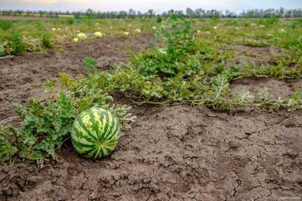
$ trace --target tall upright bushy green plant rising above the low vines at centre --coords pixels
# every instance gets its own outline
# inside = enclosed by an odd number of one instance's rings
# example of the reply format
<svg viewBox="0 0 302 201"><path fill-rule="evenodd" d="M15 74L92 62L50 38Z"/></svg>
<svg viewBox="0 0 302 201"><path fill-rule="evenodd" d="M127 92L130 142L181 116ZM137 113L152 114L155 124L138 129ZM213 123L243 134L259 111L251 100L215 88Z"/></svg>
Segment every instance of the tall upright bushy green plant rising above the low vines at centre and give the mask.
<svg viewBox="0 0 302 201"><path fill-rule="evenodd" d="M164 48L155 46L132 58L133 67L138 73L146 76L162 75L174 77L192 74L200 68L198 60L194 60L201 46L195 40L196 32L183 17L172 16L170 30L160 29L158 36L163 38Z"/></svg>

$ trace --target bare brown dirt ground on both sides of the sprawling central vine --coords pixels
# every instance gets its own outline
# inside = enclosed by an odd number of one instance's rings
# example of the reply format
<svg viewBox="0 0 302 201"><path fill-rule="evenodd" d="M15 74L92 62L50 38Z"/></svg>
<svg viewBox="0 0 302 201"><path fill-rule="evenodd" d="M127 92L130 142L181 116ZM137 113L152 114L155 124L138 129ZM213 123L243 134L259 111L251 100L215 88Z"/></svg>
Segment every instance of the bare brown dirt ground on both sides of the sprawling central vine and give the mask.
<svg viewBox="0 0 302 201"><path fill-rule="evenodd" d="M58 72L83 73L84 57L100 69L127 61L140 39L98 39L72 44L67 54L51 51L0 60L0 120L14 115L9 103L41 94L37 84ZM241 79L233 91L270 87L274 96L292 93L302 80ZM138 122L100 161L84 159L72 145L57 161L17 159L0 166L0 200L299 200L302 199L302 111L268 113L237 108L219 113L203 107L135 107ZM282 123L283 122L283 123ZM280 124L282 123L282 124ZM275 126L274 126L275 125ZM270 127L270 128L268 128Z"/></svg>

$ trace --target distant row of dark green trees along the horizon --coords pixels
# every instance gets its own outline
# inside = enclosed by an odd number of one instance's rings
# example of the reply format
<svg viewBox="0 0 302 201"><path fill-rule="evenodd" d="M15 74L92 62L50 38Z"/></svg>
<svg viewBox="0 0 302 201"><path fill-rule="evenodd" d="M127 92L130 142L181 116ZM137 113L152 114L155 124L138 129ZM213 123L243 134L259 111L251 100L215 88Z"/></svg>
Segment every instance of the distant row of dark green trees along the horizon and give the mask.
<svg viewBox="0 0 302 201"><path fill-rule="evenodd" d="M88 9L86 12L69 12L69 11L23 11L23 10L0 10L0 15L3 16L40 16L40 17L53 17L57 18L59 15L70 15L76 19L85 17L91 19L125 19L125 18L154 18L154 17L168 17L172 13L182 14L187 18L300 18L302 17L302 9L252 9L242 11L239 14L228 10L192 10L187 8L185 11L169 10L161 14L156 14L154 10L149 9L147 12L142 13L130 9L129 11L112 11L112 12L96 12Z"/></svg>

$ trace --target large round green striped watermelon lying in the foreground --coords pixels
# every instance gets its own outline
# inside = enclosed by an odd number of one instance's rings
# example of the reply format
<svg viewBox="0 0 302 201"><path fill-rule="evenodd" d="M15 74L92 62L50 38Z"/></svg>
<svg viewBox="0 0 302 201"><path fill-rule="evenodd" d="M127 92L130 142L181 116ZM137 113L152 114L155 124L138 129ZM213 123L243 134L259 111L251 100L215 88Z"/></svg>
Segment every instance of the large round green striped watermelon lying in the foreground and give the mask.
<svg viewBox="0 0 302 201"><path fill-rule="evenodd" d="M118 120L108 111L91 108L75 120L71 140L76 150L87 158L110 154L120 137Z"/></svg>

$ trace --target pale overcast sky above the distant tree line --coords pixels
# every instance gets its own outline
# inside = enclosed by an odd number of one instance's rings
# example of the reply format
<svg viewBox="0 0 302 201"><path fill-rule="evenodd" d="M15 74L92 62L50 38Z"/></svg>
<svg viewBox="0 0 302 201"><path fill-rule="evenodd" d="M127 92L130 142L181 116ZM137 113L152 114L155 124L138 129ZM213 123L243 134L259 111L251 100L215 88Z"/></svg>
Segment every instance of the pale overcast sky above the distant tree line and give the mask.
<svg viewBox="0 0 302 201"><path fill-rule="evenodd" d="M302 0L0 0L0 9L52 11L136 11L157 13L174 10L217 9L239 12L248 9L302 8Z"/></svg>

